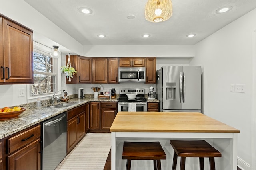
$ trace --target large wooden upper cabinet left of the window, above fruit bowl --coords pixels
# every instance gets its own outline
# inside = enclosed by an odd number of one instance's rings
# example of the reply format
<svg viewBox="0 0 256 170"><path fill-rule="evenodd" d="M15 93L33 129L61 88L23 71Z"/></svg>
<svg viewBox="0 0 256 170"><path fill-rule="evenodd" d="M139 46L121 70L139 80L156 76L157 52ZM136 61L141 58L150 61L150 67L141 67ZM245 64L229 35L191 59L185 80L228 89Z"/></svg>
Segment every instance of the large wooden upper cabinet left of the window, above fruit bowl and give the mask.
<svg viewBox="0 0 256 170"><path fill-rule="evenodd" d="M33 84L33 32L0 16L0 84Z"/></svg>

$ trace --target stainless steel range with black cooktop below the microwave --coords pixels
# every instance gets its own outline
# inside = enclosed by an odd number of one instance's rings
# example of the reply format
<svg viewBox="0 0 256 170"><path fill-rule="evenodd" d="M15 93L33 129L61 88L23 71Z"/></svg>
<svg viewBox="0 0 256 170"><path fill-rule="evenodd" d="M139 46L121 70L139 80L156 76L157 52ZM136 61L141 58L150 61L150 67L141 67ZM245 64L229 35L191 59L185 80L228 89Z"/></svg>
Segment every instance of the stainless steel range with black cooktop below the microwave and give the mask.
<svg viewBox="0 0 256 170"><path fill-rule="evenodd" d="M136 94L135 99L128 99L126 94ZM147 99L144 88L122 88L117 99L118 111L128 111L129 103L136 103L136 111L147 111Z"/></svg>

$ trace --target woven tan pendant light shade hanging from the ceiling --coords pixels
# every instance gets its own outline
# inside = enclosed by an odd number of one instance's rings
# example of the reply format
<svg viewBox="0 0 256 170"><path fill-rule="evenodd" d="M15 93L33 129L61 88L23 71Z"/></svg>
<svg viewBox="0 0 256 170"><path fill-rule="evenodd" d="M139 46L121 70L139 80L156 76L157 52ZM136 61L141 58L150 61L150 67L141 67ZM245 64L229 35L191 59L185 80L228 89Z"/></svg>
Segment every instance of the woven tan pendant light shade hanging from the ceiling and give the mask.
<svg viewBox="0 0 256 170"><path fill-rule="evenodd" d="M171 0L148 0L145 7L145 18L150 22L162 22L172 16Z"/></svg>

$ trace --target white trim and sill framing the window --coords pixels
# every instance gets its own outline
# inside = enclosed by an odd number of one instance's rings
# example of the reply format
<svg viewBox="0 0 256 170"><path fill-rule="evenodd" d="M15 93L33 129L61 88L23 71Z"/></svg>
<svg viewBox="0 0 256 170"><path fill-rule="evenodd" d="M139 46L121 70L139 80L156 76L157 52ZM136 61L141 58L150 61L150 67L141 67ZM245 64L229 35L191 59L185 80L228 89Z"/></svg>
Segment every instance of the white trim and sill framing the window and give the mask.
<svg viewBox="0 0 256 170"><path fill-rule="evenodd" d="M33 46L34 46L34 49L36 49L36 51L42 53L42 54L46 54L46 55L49 55L50 54L50 51L51 51L51 48L50 47L47 47L45 45L42 45L36 41L33 41ZM33 51L34 51L33 49ZM48 54L45 53L44 51L46 52L49 52ZM58 91L61 89L61 72L60 72L60 65L61 65L61 58L58 58L57 59L57 71L56 71L56 92L52 92L52 93L48 93L48 94L38 94L36 96L32 96L30 94L30 86L31 84L27 84L27 100L29 102L34 102L36 101L37 98L40 98L41 100L42 99L48 99L48 98L51 98L52 95L58 93ZM34 72L36 73L36 71ZM47 74L47 73L46 73ZM51 73L49 73L51 74ZM61 94L61 92L59 93Z"/></svg>

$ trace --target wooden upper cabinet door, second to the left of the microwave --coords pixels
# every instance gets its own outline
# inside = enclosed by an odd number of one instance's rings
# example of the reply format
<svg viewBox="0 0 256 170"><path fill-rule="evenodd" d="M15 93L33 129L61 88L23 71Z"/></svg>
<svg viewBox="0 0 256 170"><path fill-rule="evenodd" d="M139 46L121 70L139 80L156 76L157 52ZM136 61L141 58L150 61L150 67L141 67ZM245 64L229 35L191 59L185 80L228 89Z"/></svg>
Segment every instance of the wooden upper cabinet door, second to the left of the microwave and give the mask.
<svg viewBox="0 0 256 170"><path fill-rule="evenodd" d="M92 83L107 83L108 77L108 59L92 59Z"/></svg>

